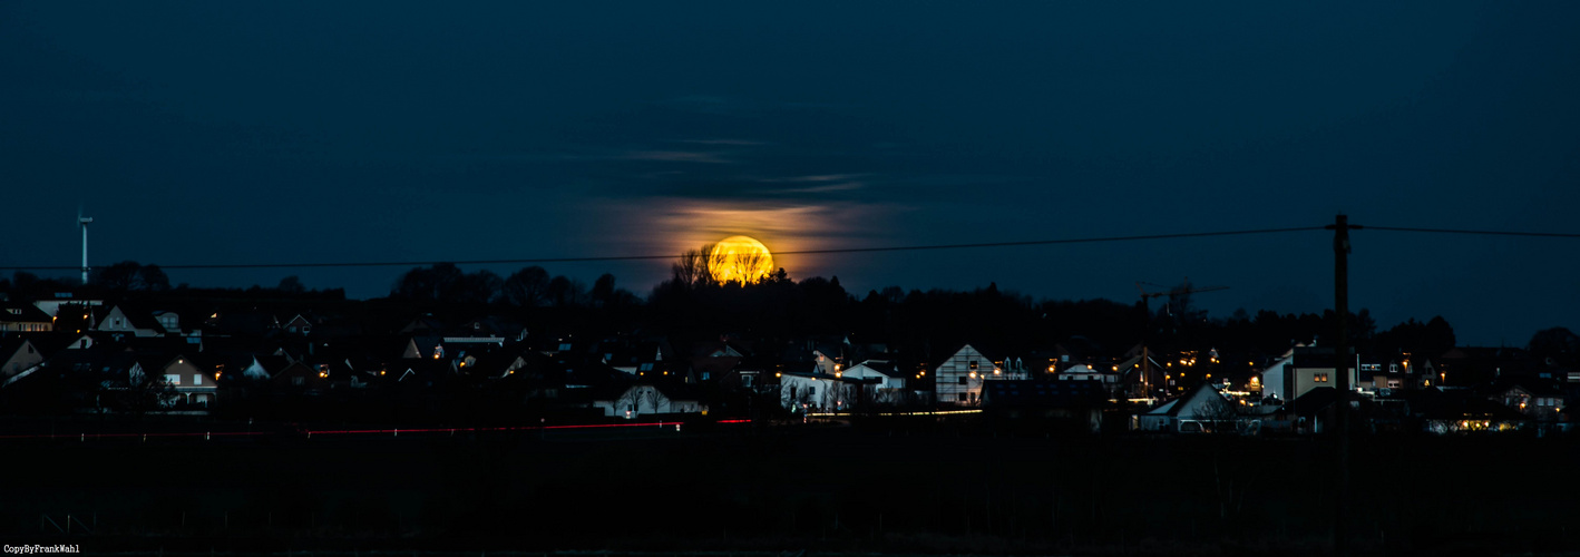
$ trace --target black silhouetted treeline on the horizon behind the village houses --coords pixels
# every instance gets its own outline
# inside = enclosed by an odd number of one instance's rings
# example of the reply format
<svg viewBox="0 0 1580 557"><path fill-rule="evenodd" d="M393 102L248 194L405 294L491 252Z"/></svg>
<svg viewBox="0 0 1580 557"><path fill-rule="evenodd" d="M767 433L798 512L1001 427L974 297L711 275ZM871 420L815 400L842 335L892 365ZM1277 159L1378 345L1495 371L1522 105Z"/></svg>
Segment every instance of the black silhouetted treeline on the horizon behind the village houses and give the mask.
<svg viewBox="0 0 1580 557"><path fill-rule="evenodd" d="M975 290L890 286L856 293L847 292L837 276L796 281L782 268L755 284L720 284L711 279L706 265L697 252L683 257L673 265L673 276L646 297L616 286L608 273L588 286L536 265L501 278L488 270L468 273L453 264L411 268L392 282L387 298L363 303L346 300L343 289L307 289L297 276L286 276L275 287L172 287L158 265L137 262L96 268L87 286L17 271L0 279L0 292L13 300L63 292L112 298L275 300L283 305L316 300L338 301L367 320L411 311L457 319L499 314L567 331L651 331L681 339L733 335L787 341L839 335L883 342L923 358L964 342L991 342L1008 352L1060 344L1082 355L1119 355L1146 342L1157 350L1217 349L1259 363L1296 342L1322 344L1337 330L1332 311L1280 314L1262 309L1253 314L1240 309L1215 317L1191 306L1188 295L1149 309L1142 301L1035 300L997 284ZM1349 316L1349 336L1360 350L1435 355L1455 346L1454 327L1443 317L1379 328L1367 309ZM1542 352L1540 357L1571 361L1580 353L1580 339L1555 328L1539 331L1531 349Z"/></svg>

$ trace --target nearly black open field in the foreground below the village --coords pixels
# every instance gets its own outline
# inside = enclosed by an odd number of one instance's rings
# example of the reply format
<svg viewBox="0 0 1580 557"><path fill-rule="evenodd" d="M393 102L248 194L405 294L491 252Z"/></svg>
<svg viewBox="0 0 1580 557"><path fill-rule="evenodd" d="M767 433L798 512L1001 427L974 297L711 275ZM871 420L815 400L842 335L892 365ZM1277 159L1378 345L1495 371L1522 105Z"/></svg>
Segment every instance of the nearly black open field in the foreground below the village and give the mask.
<svg viewBox="0 0 1580 557"><path fill-rule="evenodd" d="M85 554L1322 555L1335 494L1322 439L969 426L46 439L0 459L0 540ZM1352 546L1577 551L1577 470L1571 437L1357 437Z"/></svg>

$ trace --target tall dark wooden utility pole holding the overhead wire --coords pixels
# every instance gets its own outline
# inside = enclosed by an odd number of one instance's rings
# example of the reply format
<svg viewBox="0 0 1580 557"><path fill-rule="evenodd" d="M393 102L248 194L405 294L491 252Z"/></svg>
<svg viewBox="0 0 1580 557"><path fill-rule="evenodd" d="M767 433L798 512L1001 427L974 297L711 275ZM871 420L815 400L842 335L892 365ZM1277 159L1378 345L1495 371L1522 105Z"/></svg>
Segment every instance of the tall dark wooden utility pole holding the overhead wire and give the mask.
<svg viewBox="0 0 1580 557"><path fill-rule="evenodd" d="M1338 486L1334 489L1334 555L1349 554L1349 216L1337 215L1334 224L1334 316L1338 341L1334 344L1334 451Z"/></svg>

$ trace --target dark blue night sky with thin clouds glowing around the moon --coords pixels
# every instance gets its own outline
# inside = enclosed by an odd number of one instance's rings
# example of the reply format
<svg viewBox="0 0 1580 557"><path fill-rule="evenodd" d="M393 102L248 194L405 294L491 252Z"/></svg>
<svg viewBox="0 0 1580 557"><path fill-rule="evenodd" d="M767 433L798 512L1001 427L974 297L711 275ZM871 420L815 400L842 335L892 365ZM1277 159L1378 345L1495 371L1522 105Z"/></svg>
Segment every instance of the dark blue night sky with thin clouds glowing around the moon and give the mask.
<svg viewBox="0 0 1580 557"><path fill-rule="evenodd" d="M1580 232L1580 3L0 3L0 265L1321 226ZM858 297L1332 303L1332 235L785 256ZM1574 327L1577 240L1354 232L1351 308ZM493 268L509 275L521 265ZM646 293L668 262L548 264ZM172 270L389 292L404 268ZM41 275L74 276L70 271Z"/></svg>

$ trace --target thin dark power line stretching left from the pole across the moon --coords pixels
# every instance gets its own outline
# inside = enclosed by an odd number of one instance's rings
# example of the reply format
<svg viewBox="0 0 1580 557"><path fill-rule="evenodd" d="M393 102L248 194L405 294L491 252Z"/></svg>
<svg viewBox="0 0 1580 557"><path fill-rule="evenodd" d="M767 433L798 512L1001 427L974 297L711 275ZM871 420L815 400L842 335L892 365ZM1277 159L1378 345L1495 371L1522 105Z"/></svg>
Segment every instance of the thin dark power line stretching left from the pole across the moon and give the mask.
<svg viewBox="0 0 1580 557"><path fill-rule="evenodd" d="M814 254L858 254L858 252L883 252L883 251L934 251L934 249L978 249L978 248L1014 248L1014 246L1052 246L1052 245L1073 245L1073 243L1103 243L1103 241L1139 241L1139 240L1174 240L1174 238L1209 238L1209 237L1231 237L1231 235L1258 235L1258 234L1280 234L1280 232L1310 232L1322 230L1321 226L1304 226L1304 227L1288 227L1288 229L1255 229L1255 230L1223 230L1223 232L1185 232L1185 234L1146 234L1146 235L1128 235L1128 237L1097 237L1097 238L1060 238L1060 240L1025 240L1025 241L984 241L984 243L948 243L948 245L926 245L926 246L882 246L882 248L833 248L833 249L799 249L799 251L779 251L774 256L814 256ZM186 268L186 270L202 270L202 268L322 268L322 267L420 267L420 265L436 265L436 264L453 264L453 265L520 265L520 264L580 264L580 262L610 262L610 260L651 260L651 259L675 259L676 254L662 256L604 256L604 257L536 257L536 259L476 259L476 260L404 260L404 262L333 262L333 264L212 264L212 265L158 265L160 268ZM0 270L51 270L51 271L74 271L81 267L58 267L58 265L3 265Z"/></svg>

